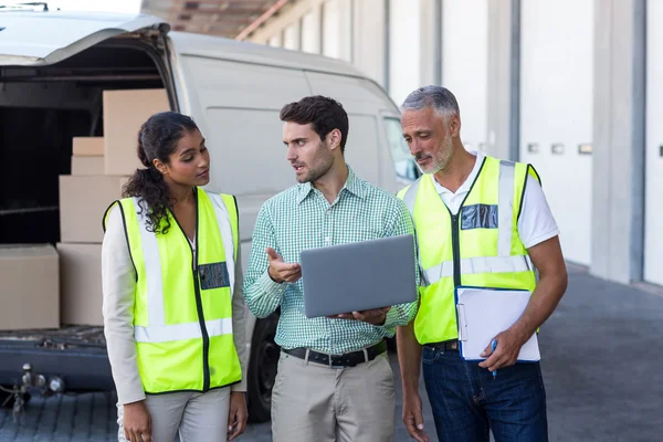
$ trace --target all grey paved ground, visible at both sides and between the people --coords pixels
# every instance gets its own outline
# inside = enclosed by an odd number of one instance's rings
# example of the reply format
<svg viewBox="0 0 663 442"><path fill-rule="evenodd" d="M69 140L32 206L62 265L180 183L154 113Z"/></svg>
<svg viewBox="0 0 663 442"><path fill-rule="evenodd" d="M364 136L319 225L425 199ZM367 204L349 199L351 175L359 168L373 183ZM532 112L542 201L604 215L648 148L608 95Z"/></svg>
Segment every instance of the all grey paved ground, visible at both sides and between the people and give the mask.
<svg viewBox="0 0 663 442"><path fill-rule="evenodd" d="M567 295L540 334L550 440L663 440L662 339L663 294L571 272ZM398 370L396 355L391 360ZM425 397L424 404L434 440ZM400 412L399 402L396 440L408 441ZM22 425L0 411L1 442L96 442L115 435L114 394L33 400ZM240 440L271 441L270 424L251 425Z"/></svg>

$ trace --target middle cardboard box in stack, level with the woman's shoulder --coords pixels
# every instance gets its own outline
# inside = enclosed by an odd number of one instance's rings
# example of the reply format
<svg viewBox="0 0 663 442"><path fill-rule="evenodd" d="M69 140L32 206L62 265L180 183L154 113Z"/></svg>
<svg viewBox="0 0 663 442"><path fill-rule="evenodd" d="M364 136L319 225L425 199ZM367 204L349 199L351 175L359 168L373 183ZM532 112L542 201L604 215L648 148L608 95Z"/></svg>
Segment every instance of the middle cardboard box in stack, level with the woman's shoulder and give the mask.
<svg viewBox="0 0 663 442"><path fill-rule="evenodd" d="M101 243L108 206L122 198L128 177L60 176L60 241Z"/></svg>

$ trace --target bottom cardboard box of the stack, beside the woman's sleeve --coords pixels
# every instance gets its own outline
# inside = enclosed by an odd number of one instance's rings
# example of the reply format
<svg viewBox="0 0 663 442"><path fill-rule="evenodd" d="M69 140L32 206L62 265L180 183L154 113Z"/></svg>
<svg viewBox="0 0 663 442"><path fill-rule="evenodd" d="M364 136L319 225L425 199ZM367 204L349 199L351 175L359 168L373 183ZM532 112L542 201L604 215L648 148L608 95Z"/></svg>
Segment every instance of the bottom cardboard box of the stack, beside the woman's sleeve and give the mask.
<svg viewBox="0 0 663 442"><path fill-rule="evenodd" d="M57 244L60 317L64 325L104 325L102 244Z"/></svg>

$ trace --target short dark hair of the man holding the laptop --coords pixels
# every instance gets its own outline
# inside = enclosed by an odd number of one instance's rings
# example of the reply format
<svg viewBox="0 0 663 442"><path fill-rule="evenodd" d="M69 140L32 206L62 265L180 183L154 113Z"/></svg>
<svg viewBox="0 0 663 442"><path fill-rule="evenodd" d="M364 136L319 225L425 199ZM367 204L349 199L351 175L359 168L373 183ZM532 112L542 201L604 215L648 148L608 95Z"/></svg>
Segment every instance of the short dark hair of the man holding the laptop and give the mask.
<svg viewBox="0 0 663 442"><path fill-rule="evenodd" d="M307 96L283 106L280 117L282 122L301 125L311 123L322 140L325 140L332 130L340 130L340 151L345 152L349 129L348 114L336 99L322 95Z"/></svg>

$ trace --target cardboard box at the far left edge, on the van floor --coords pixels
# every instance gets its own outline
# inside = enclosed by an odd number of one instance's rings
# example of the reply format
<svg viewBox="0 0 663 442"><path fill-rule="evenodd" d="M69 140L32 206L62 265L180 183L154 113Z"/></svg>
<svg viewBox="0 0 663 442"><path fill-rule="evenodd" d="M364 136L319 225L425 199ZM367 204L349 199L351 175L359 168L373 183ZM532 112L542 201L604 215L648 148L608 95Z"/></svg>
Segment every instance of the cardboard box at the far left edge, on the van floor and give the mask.
<svg viewBox="0 0 663 442"><path fill-rule="evenodd" d="M0 329L59 328L59 272L50 244L0 245Z"/></svg>

